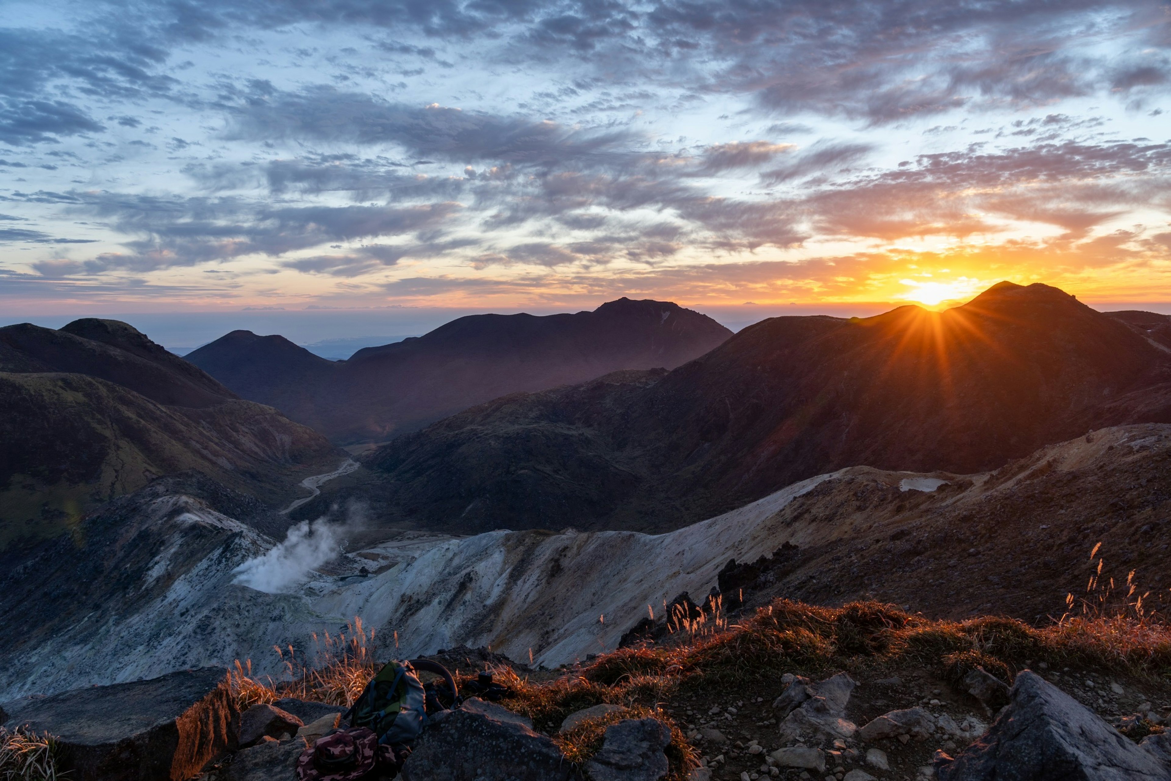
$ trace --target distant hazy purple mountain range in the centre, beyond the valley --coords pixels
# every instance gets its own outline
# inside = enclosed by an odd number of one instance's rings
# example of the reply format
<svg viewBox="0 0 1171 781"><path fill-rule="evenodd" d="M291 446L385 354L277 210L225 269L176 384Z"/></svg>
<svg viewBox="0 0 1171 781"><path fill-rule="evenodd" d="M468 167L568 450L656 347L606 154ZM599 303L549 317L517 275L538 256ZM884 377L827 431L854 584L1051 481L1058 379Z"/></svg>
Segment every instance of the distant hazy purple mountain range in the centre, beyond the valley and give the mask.
<svg viewBox="0 0 1171 781"><path fill-rule="evenodd" d="M345 444L386 440L508 393L621 369L673 369L731 335L674 303L619 299L576 314L460 317L348 361L249 331L232 331L186 359L244 398Z"/></svg>

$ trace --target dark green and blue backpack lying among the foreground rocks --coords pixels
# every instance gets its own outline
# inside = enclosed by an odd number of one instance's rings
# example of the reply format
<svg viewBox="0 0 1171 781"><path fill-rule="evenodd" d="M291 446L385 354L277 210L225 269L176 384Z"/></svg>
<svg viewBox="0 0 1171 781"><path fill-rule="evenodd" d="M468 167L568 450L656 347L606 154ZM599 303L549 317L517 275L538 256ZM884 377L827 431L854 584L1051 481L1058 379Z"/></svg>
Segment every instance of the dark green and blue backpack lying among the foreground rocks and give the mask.
<svg viewBox="0 0 1171 781"><path fill-rule="evenodd" d="M388 662L343 718L351 727L371 729L379 744L409 746L415 742L427 720L426 692L416 670L443 676L453 696L458 694L456 679L443 665L429 659Z"/></svg>

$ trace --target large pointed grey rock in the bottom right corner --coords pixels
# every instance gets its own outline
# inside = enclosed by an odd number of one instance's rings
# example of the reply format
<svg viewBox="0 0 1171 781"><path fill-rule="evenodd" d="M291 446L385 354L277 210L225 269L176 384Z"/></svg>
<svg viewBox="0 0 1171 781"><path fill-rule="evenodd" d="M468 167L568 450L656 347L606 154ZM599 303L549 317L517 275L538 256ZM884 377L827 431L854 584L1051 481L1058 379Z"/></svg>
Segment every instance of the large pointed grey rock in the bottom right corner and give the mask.
<svg viewBox="0 0 1171 781"><path fill-rule="evenodd" d="M988 732L937 769L940 781L1171 781L1171 769L1026 670Z"/></svg>

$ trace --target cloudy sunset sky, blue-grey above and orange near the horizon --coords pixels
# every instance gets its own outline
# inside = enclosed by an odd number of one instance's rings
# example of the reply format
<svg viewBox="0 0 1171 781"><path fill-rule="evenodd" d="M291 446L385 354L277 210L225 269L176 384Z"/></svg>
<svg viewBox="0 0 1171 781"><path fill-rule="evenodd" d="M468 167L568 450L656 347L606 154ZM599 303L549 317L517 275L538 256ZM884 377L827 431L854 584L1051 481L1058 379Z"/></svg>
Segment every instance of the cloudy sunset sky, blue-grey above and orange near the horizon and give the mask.
<svg viewBox="0 0 1171 781"><path fill-rule="evenodd" d="M0 306L1171 301L1169 89L1152 0L0 0Z"/></svg>

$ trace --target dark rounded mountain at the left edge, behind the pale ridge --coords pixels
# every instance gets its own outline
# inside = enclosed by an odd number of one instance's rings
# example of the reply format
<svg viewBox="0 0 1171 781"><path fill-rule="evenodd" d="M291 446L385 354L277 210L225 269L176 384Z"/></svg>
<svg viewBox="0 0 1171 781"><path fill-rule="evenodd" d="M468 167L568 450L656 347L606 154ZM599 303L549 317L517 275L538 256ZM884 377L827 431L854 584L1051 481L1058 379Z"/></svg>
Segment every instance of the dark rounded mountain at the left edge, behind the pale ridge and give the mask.
<svg viewBox="0 0 1171 781"><path fill-rule="evenodd" d="M156 477L197 470L265 501L341 454L126 323L0 328L0 547L52 536Z"/></svg>

